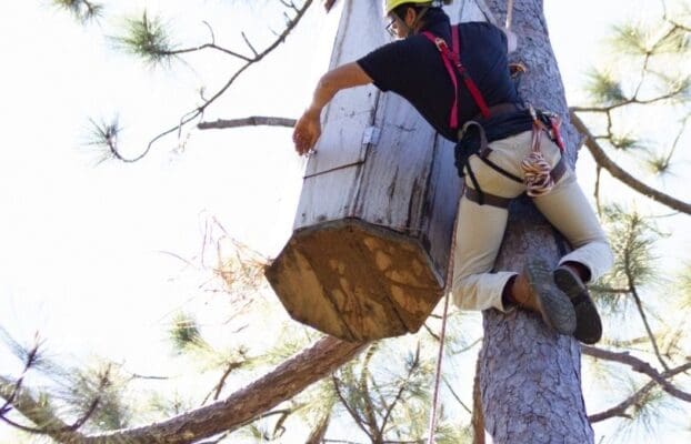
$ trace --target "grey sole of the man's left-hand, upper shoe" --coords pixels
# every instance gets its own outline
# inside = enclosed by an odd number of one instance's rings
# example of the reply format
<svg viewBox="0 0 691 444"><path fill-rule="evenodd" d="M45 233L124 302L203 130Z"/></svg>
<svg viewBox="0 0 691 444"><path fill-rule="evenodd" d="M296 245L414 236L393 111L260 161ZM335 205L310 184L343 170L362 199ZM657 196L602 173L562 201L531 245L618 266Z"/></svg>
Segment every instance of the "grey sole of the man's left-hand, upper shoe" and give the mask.
<svg viewBox="0 0 691 444"><path fill-rule="evenodd" d="M541 259L533 259L525 264L525 276L544 323L561 334L573 334L577 326L573 304L554 284L552 268Z"/></svg>

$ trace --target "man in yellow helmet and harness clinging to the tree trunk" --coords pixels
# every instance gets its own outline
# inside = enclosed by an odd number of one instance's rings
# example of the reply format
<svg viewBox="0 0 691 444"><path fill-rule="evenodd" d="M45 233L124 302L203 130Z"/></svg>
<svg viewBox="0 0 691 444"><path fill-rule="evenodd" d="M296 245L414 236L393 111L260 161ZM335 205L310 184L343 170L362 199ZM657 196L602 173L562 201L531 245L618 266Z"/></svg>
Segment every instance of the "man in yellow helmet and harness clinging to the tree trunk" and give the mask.
<svg viewBox="0 0 691 444"><path fill-rule="evenodd" d="M441 2L387 0L387 29L398 38L326 73L293 132L308 153L321 134L320 114L347 88L374 83L407 99L444 138L457 142L465 186L459 208L452 295L464 310L521 307L584 343L602 335L585 283L612 264L605 235L562 157L559 121L518 94L509 39L487 22L451 26ZM460 57L459 57L460 54ZM492 272L511 199L528 193L573 251L552 270L530 259L521 273Z"/></svg>

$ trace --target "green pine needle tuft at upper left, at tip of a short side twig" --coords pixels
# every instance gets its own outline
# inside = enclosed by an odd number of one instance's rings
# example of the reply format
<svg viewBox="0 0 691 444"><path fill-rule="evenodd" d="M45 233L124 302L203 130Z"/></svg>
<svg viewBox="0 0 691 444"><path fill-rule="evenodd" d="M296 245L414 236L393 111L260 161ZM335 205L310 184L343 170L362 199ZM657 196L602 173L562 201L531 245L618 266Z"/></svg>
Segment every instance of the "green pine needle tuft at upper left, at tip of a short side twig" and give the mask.
<svg viewBox="0 0 691 444"><path fill-rule="evenodd" d="M150 65L170 63L174 57L174 46L162 20L150 19L144 11L141 18L126 20L123 36L113 38L116 46L142 58Z"/></svg>

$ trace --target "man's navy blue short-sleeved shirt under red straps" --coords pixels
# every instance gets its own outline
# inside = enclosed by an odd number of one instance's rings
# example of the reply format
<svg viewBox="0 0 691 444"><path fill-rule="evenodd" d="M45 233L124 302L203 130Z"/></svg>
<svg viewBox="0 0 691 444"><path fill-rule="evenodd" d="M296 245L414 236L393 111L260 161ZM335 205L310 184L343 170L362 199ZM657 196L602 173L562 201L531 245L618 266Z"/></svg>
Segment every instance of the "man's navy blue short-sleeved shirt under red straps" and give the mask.
<svg viewBox="0 0 691 444"><path fill-rule="evenodd" d="M431 12L431 11L430 11ZM451 48L449 17L439 11L425 16L423 31L443 38ZM459 24L461 63L478 85L488 107L520 103L509 73L507 37L487 22ZM414 34L385 44L357 61L382 91L407 99L444 138L457 141L458 130L450 128L453 83L434 43ZM459 75L459 128L480 113Z"/></svg>

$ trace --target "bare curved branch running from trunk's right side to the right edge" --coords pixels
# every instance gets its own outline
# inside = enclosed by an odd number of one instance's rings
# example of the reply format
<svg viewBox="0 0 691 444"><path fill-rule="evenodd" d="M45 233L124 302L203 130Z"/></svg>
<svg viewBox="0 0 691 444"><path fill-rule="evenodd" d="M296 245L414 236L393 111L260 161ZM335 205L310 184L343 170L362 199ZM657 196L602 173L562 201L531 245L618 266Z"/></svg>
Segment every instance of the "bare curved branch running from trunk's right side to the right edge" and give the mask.
<svg viewBox="0 0 691 444"><path fill-rule="evenodd" d="M662 203L671 208L672 210L680 211L682 213L691 214L691 203L680 201L678 199L672 198L669 194L665 194L661 191L658 191L651 186L648 186L643 182L639 181L627 171L624 171L621 167L619 167L614 161L612 161L602 147L598 143L595 138L592 135L585 123L577 115L575 111L578 108L571 109L571 122L573 125L580 131L583 135L585 135L585 147L590 150L593 159L598 163L598 165L605 169L613 178L623 182L634 191Z"/></svg>

